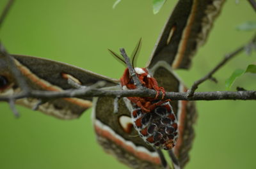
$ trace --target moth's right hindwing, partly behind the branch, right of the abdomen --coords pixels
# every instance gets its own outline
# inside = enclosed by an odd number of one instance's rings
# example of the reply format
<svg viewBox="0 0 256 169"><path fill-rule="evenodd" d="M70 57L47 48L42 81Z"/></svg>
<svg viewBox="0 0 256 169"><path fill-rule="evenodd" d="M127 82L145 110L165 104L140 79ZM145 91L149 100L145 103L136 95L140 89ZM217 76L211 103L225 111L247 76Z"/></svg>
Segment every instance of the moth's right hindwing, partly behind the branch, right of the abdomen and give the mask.
<svg viewBox="0 0 256 169"><path fill-rule="evenodd" d="M158 85L164 87L165 91L187 91L179 77L173 73L172 68L166 62L158 62L149 72L156 78ZM184 165L186 165L189 160L188 153L195 136L193 129L197 117L195 102L180 100L170 101L170 104L177 117L179 131L179 138L174 147L174 153L179 160L180 167L184 168Z"/></svg>

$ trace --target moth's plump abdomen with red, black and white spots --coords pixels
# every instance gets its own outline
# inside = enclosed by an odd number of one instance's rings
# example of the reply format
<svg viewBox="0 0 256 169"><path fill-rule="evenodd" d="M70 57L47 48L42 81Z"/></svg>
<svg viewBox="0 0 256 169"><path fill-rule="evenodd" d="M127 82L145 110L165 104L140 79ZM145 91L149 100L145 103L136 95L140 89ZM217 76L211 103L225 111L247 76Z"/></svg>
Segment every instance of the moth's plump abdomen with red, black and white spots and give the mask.
<svg viewBox="0 0 256 169"><path fill-rule="evenodd" d="M136 108L132 112L134 128L145 142L153 147L170 150L178 138L177 120L167 101L151 112Z"/></svg>

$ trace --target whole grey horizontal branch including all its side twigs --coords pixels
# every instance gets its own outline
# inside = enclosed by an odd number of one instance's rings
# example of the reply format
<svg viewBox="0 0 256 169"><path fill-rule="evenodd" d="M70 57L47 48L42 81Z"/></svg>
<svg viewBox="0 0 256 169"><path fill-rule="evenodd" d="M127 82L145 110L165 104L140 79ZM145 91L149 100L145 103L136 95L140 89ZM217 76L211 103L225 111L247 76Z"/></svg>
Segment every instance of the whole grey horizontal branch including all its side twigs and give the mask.
<svg viewBox="0 0 256 169"><path fill-rule="evenodd" d="M256 38L256 37L255 37ZM253 38L253 41L255 41L255 38ZM156 91L152 89L148 89L147 87L143 87L140 83L140 80L136 76L136 73L134 69L131 66L131 62L129 61L129 57L125 53L124 48L120 49L120 52L122 53L125 62L127 62L127 66L129 68L129 71L131 73L132 79L134 82L136 82L137 89L134 90L120 90L120 91L106 91L106 89L99 89L99 87L104 86L104 82L98 82L96 84L93 84L91 86L83 86L80 84L77 84L72 79L68 79L68 82L72 84L72 86L76 87L76 89L68 89L65 91L38 91L33 90L28 87L26 84L26 80L24 77L22 77L20 71L15 66L15 62L12 59L12 55L8 54L6 50L3 48L3 45L0 44L1 47L1 54L6 56L6 59L8 59L8 64L11 70L13 71L13 75L15 76L20 88L22 89L22 92L18 94L14 94L11 96L0 96L0 101L8 101L10 104L10 107L12 108L12 111L15 115L19 115L15 106L14 102L16 99L22 99L22 98L37 98L40 101L38 104L35 105L35 109L38 108L38 106L42 103L45 103L45 101L56 98L81 98L81 97L103 97L103 96L110 96L113 98L121 98L121 97L152 97L154 98L156 96ZM205 77L202 79L196 81L196 88L199 84L204 82L207 79L212 78L212 74L216 72L218 69L221 68L229 59L234 57L234 55L238 54L243 50L244 47L238 48L236 51L232 52L231 54L226 55L226 57L221 61L212 71L210 71ZM196 89L194 88L192 89ZM193 91L192 95L188 95L188 92L166 92L165 93L166 99L172 99L172 100L249 100L254 99L256 100L256 91L215 91L215 92L195 92ZM116 99L117 101L117 99ZM117 102L116 102L117 103ZM116 107L117 108L117 107Z"/></svg>

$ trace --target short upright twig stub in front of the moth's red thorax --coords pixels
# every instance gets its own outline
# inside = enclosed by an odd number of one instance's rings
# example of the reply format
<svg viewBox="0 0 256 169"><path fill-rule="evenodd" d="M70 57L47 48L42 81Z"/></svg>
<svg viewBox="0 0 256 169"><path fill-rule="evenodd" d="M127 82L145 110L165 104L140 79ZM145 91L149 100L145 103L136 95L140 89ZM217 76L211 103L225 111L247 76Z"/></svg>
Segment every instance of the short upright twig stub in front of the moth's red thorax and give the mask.
<svg viewBox="0 0 256 169"><path fill-rule="evenodd" d="M129 69L129 72L131 74L132 80L134 81L134 84L136 85L136 87L143 89L143 86L142 86L139 78L137 77L137 75L134 71L134 68L132 68L131 61L130 61L129 57L127 56L124 48L120 48L120 52L121 52L121 55L124 57L124 61L127 65L127 68Z"/></svg>

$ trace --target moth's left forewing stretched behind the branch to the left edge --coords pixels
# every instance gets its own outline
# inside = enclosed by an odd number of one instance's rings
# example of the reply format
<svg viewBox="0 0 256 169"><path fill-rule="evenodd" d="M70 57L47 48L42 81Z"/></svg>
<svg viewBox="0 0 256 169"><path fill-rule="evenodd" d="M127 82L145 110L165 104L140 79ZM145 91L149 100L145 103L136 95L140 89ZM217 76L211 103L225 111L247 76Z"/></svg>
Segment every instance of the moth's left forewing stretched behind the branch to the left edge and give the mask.
<svg viewBox="0 0 256 169"><path fill-rule="evenodd" d="M13 57L17 68L31 89L63 91L74 88L68 84L67 78L72 78L78 84L85 86L90 86L99 81L106 82L106 86L118 84L118 80L62 62L26 55L13 55ZM5 57L0 56L0 76L8 80L8 86L4 87L4 90L0 89L0 95L20 92L20 87L7 65ZM33 108L38 101L36 98L23 98L18 99L17 104ZM45 101L38 107L38 110L60 119L74 119L90 107L92 107L92 98L60 98Z"/></svg>

